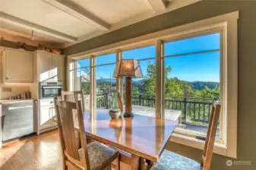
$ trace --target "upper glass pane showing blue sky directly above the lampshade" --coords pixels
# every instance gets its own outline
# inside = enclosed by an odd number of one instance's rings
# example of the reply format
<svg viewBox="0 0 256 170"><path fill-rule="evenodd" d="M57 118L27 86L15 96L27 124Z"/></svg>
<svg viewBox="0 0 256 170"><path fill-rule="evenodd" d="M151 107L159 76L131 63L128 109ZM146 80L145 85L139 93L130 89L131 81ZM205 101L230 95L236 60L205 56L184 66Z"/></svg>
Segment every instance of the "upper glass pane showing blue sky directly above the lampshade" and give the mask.
<svg viewBox="0 0 256 170"><path fill-rule="evenodd" d="M123 51L122 58L139 60L139 59L155 57L156 56L155 51L156 51L155 45L144 47L144 48L136 48L133 50Z"/></svg>

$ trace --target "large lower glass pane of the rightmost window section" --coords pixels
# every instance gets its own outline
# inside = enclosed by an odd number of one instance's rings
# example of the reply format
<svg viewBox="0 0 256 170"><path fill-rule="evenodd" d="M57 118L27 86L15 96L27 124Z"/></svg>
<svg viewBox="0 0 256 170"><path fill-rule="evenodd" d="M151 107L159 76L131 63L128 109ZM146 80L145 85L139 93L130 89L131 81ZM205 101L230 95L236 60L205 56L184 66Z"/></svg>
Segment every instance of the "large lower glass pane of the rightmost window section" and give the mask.
<svg viewBox="0 0 256 170"><path fill-rule="evenodd" d="M220 52L167 57L165 70L165 118L182 114L180 129L206 134L213 101L220 100Z"/></svg>

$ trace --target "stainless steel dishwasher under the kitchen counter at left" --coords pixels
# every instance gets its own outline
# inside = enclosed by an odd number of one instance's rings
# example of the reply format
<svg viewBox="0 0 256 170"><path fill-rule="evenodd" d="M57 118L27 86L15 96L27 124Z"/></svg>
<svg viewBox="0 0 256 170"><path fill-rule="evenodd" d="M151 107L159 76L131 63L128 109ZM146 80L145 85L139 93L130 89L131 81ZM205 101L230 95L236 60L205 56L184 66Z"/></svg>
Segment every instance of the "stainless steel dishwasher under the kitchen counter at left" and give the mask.
<svg viewBox="0 0 256 170"><path fill-rule="evenodd" d="M2 141L22 138L36 131L33 101L2 104Z"/></svg>

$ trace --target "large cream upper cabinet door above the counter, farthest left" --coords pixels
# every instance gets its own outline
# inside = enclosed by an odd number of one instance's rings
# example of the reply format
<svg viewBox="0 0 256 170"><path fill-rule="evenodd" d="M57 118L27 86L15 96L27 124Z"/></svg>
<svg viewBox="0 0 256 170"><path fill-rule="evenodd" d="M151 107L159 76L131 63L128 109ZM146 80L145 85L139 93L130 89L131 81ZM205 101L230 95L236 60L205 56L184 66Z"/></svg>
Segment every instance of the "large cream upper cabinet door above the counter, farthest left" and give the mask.
<svg viewBox="0 0 256 170"><path fill-rule="evenodd" d="M6 49L4 60L4 82L33 82L32 53Z"/></svg>

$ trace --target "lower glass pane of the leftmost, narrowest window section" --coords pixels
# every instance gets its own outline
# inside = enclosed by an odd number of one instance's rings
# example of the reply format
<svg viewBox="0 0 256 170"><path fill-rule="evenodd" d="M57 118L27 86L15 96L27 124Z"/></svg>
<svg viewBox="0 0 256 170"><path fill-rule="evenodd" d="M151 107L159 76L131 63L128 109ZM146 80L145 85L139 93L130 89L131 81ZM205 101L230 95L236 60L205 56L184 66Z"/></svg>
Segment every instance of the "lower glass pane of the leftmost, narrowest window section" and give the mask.
<svg viewBox="0 0 256 170"><path fill-rule="evenodd" d="M84 109L90 110L90 67L77 69L76 91L84 91Z"/></svg>

